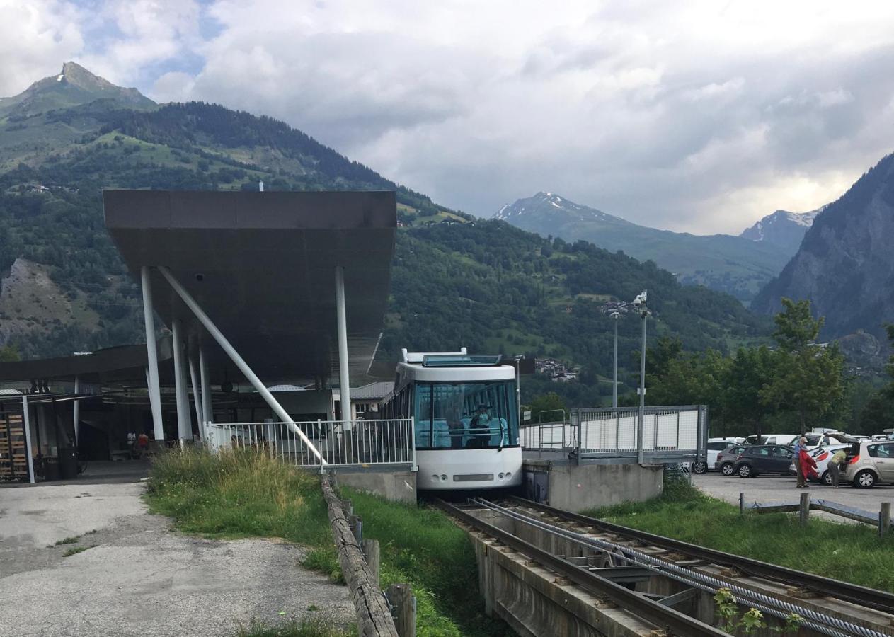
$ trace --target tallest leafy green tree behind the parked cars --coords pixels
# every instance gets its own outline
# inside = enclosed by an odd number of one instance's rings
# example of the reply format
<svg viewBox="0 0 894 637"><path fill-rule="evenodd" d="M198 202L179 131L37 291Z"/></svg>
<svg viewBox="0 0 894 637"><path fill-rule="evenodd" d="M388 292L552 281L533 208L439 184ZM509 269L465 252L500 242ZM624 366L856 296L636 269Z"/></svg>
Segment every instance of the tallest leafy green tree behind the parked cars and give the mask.
<svg viewBox="0 0 894 637"><path fill-rule="evenodd" d="M776 315L773 333L779 344L775 365L759 393L764 405L796 415L803 435L808 421L830 415L844 398L844 356L837 343L813 342L822 318L814 319L810 301L783 298L782 305L785 310Z"/></svg>

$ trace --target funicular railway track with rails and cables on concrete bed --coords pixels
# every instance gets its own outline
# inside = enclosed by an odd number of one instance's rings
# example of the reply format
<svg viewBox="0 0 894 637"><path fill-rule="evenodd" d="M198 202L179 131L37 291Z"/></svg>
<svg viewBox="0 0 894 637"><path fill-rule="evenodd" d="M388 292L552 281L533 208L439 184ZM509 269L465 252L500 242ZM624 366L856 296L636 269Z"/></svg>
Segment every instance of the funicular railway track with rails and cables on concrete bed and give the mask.
<svg viewBox="0 0 894 637"><path fill-rule="evenodd" d="M713 595L726 588L740 608L757 608L780 622L796 614L802 630L810 634L894 635L894 595L885 591L705 549L520 498L502 503L472 499L462 507L443 501L437 505L668 634L727 634L700 621L698 612L692 611L696 594ZM665 579L673 590L682 590L661 595L644 591L647 584L636 584ZM689 613L678 608L688 608Z"/></svg>

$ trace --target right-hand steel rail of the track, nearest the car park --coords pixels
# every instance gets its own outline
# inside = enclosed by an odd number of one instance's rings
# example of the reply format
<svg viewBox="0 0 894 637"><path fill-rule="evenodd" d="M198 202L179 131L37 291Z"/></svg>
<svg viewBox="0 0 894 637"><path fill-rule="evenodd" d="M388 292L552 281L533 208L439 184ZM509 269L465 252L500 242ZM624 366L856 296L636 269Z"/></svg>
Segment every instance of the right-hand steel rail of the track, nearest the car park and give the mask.
<svg viewBox="0 0 894 637"><path fill-rule="evenodd" d="M637 529L631 529L628 526L620 524L611 524L611 522L603 522L595 517L580 515L579 513L571 513L561 508L550 507L540 504L532 500L511 496L509 499L519 502L520 504L544 511L552 515L557 515L569 522L577 522L586 524L596 529L606 532L616 533L618 535L626 535L637 541L647 542L656 547L670 549L677 553L687 554L692 557L704 559L719 566L731 566L738 569L742 573L763 577L764 579L774 580L781 583L795 584L805 589L810 589L821 594L823 597L832 597L843 599L860 606L874 608L887 613L894 614L894 594L885 591L876 591L875 589L833 580L830 577L823 577L811 573L804 573L786 566L777 566L767 564L751 557L741 557L731 553L725 553L721 550L706 549L697 544L690 544L686 541L673 540L662 535L655 535Z"/></svg>

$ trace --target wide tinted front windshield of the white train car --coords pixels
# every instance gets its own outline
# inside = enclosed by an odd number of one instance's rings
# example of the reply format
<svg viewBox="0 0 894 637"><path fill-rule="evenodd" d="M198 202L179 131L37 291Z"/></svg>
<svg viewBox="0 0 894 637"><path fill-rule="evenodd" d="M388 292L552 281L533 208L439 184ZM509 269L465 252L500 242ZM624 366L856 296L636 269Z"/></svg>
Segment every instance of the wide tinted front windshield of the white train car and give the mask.
<svg viewBox="0 0 894 637"><path fill-rule="evenodd" d="M414 407L417 448L519 445L514 381L417 382Z"/></svg>

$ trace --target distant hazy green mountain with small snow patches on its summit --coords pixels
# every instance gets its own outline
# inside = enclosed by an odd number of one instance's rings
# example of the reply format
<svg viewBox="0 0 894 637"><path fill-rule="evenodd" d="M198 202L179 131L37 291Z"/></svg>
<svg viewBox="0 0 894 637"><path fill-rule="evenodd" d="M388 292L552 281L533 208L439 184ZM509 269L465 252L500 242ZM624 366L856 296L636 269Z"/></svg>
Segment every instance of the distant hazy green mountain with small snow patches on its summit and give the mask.
<svg viewBox="0 0 894 637"><path fill-rule="evenodd" d="M548 192L504 205L493 217L544 237L584 239L637 259L651 259L683 283L727 292L744 302L778 274L797 249L788 253L767 243L724 234L698 236L655 230Z"/></svg>

